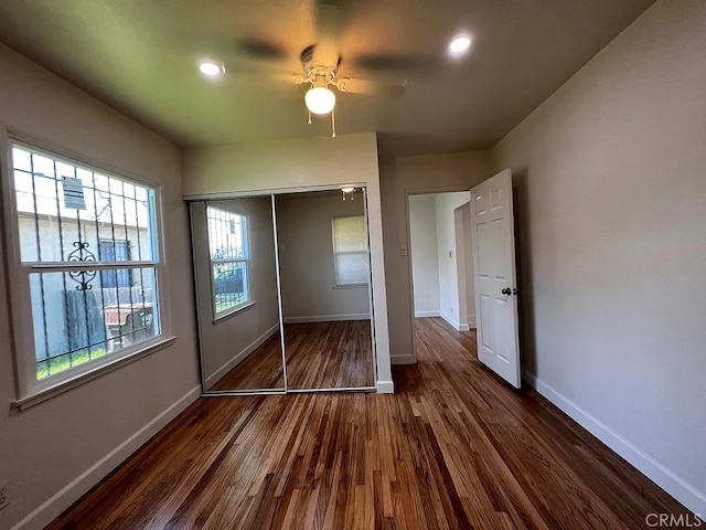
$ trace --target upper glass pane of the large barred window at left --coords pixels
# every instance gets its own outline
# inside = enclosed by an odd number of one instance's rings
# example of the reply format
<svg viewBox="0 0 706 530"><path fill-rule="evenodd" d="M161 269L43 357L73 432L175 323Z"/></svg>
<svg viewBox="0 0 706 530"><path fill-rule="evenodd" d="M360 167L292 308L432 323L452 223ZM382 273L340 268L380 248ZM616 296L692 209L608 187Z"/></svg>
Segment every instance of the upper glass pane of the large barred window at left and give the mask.
<svg viewBox="0 0 706 530"><path fill-rule="evenodd" d="M96 261L99 240L130 241L129 261L152 261L153 190L14 146L14 187L22 263L61 263L76 242ZM28 167L29 165L29 167ZM96 255L97 254L97 255Z"/></svg>

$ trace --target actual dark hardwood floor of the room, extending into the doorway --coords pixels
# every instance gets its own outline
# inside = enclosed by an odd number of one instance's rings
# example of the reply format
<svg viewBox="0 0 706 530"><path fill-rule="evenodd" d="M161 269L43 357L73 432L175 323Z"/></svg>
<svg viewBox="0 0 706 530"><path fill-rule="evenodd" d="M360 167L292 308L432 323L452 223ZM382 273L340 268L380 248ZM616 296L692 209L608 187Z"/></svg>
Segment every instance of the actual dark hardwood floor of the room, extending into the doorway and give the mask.
<svg viewBox="0 0 706 530"><path fill-rule="evenodd" d="M395 394L201 399L50 527L644 529L685 509L473 333L420 319Z"/></svg>

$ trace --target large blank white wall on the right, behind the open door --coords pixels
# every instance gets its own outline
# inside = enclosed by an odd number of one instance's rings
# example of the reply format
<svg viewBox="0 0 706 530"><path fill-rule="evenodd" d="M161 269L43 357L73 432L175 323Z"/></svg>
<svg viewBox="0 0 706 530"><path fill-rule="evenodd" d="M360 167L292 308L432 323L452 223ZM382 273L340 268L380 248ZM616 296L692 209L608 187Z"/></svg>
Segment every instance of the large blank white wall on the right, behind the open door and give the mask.
<svg viewBox="0 0 706 530"><path fill-rule="evenodd" d="M661 0L495 148L528 381L706 515L706 2Z"/></svg>

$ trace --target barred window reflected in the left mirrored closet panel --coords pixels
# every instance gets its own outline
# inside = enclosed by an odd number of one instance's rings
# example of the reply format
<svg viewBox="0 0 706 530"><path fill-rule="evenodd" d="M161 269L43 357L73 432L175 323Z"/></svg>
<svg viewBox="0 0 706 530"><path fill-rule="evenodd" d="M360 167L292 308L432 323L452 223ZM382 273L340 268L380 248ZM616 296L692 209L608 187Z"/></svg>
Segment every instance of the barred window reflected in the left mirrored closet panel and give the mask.
<svg viewBox="0 0 706 530"><path fill-rule="evenodd" d="M214 318L233 312L250 301L247 218L208 206L208 250Z"/></svg>

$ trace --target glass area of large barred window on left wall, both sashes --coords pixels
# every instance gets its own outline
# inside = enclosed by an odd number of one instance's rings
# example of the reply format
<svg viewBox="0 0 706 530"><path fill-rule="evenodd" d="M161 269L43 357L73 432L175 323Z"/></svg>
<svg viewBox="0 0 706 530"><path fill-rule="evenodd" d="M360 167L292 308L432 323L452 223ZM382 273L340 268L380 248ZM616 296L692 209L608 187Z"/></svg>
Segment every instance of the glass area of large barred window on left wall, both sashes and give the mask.
<svg viewBox="0 0 706 530"><path fill-rule="evenodd" d="M156 192L22 145L12 170L18 362L42 390L160 335Z"/></svg>

